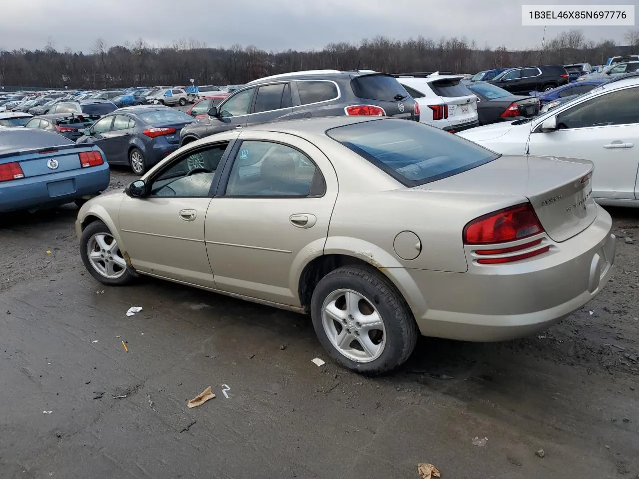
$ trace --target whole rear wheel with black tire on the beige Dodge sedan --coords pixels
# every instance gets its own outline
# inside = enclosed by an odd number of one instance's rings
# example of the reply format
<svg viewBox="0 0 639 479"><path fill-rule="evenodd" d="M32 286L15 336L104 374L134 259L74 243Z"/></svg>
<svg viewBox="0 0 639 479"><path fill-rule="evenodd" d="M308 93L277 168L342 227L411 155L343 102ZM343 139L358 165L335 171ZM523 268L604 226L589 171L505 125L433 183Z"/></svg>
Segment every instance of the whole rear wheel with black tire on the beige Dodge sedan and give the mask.
<svg viewBox="0 0 639 479"><path fill-rule="evenodd" d="M396 369L417 343L406 301L368 268L343 266L323 277L312 294L311 319L328 354L360 374Z"/></svg>

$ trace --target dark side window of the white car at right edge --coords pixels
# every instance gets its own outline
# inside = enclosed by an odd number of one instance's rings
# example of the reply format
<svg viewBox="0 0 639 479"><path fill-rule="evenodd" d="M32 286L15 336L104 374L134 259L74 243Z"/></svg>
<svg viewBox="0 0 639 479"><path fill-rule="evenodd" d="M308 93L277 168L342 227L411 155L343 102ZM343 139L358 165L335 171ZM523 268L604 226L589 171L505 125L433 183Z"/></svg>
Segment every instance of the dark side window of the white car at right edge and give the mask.
<svg viewBox="0 0 639 479"><path fill-rule="evenodd" d="M639 87L611 91L557 115L560 130L633 123L639 123Z"/></svg>

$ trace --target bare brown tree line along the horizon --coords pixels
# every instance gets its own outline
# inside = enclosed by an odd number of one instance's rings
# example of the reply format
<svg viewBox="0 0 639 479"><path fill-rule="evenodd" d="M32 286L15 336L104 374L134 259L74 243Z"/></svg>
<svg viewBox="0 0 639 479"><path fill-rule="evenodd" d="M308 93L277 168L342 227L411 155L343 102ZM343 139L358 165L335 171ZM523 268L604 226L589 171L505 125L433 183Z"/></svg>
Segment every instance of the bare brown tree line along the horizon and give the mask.
<svg viewBox="0 0 639 479"><path fill-rule="evenodd" d="M107 45L97 38L91 52L58 51L49 38L43 49L0 52L0 86L100 89L106 87L243 84L266 75L296 70L337 69L378 72L475 73L509 66L590 63L602 65L610 56L630 53L639 45L639 29L627 32L627 46L613 40L587 40L572 29L534 49L478 47L463 38L376 36L359 43L329 43L321 50L266 52L254 45L209 48L196 40L153 47L144 39Z"/></svg>

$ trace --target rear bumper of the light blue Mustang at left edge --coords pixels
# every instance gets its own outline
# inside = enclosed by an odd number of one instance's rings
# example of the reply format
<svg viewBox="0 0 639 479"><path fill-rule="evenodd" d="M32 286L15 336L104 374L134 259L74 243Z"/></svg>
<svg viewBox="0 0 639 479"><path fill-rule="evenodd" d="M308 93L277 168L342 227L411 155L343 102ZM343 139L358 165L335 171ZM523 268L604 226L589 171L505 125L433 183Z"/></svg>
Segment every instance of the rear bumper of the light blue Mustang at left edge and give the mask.
<svg viewBox="0 0 639 479"><path fill-rule="evenodd" d="M61 183L63 182L63 183ZM48 208L96 195L109 186L109 165L0 183L0 212Z"/></svg>

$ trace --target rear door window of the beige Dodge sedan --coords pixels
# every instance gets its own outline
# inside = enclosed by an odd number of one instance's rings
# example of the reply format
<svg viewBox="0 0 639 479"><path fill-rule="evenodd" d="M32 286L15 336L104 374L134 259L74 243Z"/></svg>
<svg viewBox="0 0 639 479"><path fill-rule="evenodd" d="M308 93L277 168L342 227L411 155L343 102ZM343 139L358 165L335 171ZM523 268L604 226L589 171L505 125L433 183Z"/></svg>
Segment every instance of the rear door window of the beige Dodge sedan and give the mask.
<svg viewBox="0 0 639 479"><path fill-rule="evenodd" d="M306 197L321 195L324 180L298 149L268 141L245 141L235 157L227 196Z"/></svg>

